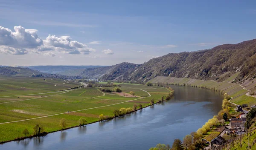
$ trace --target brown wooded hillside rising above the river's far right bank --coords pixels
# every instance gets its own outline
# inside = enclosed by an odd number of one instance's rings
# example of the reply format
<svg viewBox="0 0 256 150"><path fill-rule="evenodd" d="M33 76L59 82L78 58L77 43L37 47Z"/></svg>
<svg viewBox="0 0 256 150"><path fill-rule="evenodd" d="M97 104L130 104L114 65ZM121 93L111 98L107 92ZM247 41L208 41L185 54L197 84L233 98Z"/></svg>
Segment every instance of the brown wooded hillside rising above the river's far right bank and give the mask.
<svg viewBox="0 0 256 150"><path fill-rule="evenodd" d="M145 82L156 76L251 80L256 78L256 39L196 52L169 53L141 65L120 63L107 69L101 79Z"/></svg>

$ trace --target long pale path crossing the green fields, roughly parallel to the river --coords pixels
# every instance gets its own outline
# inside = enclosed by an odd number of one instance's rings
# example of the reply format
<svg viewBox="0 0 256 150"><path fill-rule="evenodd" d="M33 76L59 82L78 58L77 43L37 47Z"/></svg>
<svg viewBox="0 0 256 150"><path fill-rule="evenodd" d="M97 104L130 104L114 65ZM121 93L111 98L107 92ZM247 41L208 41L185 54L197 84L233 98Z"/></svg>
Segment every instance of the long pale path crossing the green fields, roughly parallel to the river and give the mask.
<svg viewBox="0 0 256 150"><path fill-rule="evenodd" d="M144 92L147 92L143 89L140 89ZM104 92L103 92L104 93ZM147 97L151 97L150 93L147 92L149 96ZM105 95L105 93L104 93ZM102 95L102 96L104 96ZM96 96L96 97L101 97L101 96ZM96 98L94 97L94 98ZM145 97L145 98L147 98ZM137 98L137 99L134 99L134 100L130 100L130 101L136 101L136 100L139 100L139 99L143 99L143 98ZM117 105L117 104L122 104L122 103L127 103L127 102L130 102L130 101L123 101L123 102L120 102L120 103L116 103L116 104L110 104L110 105L105 105L105 106L99 106L99 107L93 107L93 108L87 108L87 109L83 109L83 110L92 110L92 109L96 109L96 108L102 108L102 107L108 107L108 106L113 106L113 105ZM69 113L74 113L74 112L79 112L79 111L83 111L83 110L75 110L75 111L70 111ZM30 119L24 119L24 120L18 120L18 121L10 121L10 122L3 122L3 123L0 123L0 124L9 124L9 123L14 123L14 122L21 122L21 121L28 121L28 120L34 120L34 119L39 119L39 118L46 118L46 117L50 117L50 116L55 116L55 115L63 115L63 114L67 114L66 113L58 113L58 114L54 114L54 115L46 115L46 116L42 116L42 117L37 117L37 118L30 118Z"/></svg>

